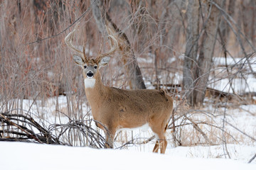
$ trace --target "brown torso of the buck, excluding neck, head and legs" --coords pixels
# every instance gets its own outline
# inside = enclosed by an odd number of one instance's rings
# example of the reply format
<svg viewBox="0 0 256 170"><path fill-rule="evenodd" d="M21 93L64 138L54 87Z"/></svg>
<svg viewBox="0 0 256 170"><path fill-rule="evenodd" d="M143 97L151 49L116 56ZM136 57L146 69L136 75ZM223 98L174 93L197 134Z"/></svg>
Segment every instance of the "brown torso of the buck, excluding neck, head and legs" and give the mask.
<svg viewBox="0 0 256 170"><path fill-rule="evenodd" d="M166 122L173 108L171 96L157 90L110 88L103 102L102 105L107 107L100 111L101 118L107 122L118 122L122 128L138 127L156 119Z"/></svg>

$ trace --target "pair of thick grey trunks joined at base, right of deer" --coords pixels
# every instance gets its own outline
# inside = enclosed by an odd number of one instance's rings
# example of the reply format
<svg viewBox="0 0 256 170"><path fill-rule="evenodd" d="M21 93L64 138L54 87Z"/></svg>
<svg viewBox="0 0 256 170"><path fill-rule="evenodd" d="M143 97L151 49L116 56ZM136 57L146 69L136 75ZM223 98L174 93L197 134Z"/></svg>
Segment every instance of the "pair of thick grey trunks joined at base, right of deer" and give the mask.
<svg viewBox="0 0 256 170"><path fill-rule="evenodd" d="M217 4L223 6L223 0L216 1ZM192 106L201 106L206 94L208 77L213 62L213 52L215 49L215 41L217 30L220 23L220 11L206 1L207 18L203 21L203 37L198 55L198 18L199 6L201 4L196 1L188 3L188 28L186 39L186 57L183 67L183 87L187 90L186 97L188 103ZM205 15L201 13L201 15ZM201 16L203 18L203 16Z"/></svg>

